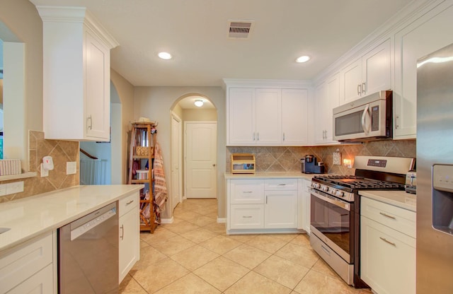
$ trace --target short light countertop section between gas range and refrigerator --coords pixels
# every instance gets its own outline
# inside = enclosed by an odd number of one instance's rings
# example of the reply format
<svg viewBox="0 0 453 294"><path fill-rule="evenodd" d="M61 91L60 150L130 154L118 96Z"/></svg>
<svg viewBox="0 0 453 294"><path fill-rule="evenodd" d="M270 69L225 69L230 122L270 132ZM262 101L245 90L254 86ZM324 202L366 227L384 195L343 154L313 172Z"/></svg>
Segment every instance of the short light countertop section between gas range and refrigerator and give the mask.
<svg viewBox="0 0 453 294"><path fill-rule="evenodd" d="M417 211L417 197L404 191L362 190L361 196L398 206L409 211Z"/></svg>

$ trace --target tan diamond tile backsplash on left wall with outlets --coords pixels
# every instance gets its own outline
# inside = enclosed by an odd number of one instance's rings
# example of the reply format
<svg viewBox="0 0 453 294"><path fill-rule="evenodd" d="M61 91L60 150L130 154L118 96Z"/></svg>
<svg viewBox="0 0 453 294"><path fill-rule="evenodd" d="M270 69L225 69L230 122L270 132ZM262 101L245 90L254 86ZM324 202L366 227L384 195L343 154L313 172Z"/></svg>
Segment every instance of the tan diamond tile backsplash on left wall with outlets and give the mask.
<svg viewBox="0 0 453 294"><path fill-rule="evenodd" d="M64 189L79 185L79 142L78 141L60 141L44 139L44 132L29 131L29 167L30 172L37 172L36 177L23 179L24 191L17 194L0 196L0 202L21 199L35 194L52 192L58 189ZM40 164L44 156L52 156L54 169L49 171L48 177L41 177ZM75 161L77 163L77 172L74 175L66 175L66 163ZM0 182L18 182L10 180Z"/></svg>

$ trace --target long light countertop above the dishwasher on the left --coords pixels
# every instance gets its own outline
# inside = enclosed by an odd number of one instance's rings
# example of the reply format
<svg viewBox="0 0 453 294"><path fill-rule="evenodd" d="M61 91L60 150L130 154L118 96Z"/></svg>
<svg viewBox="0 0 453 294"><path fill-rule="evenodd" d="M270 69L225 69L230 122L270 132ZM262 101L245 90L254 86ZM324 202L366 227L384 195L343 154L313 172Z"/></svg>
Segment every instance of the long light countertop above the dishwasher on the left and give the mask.
<svg viewBox="0 0 453 294"><path fill-rule="evenodd" d="M143 185L76 186L0 204L0 253L96 211Z"/></svg>

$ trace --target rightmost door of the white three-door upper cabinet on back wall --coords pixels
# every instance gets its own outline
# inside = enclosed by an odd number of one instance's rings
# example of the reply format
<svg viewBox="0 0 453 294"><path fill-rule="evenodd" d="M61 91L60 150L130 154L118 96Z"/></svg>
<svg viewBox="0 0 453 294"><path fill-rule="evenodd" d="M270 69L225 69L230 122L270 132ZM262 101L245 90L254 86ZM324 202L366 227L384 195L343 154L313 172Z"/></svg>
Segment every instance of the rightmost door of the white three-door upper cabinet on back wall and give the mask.
<svg viewBox="0 0 453 294"><path fill-rule="evenodd" d="M308 90L282 89L282 143L285 146L309 143L308 108Z"/></svg>

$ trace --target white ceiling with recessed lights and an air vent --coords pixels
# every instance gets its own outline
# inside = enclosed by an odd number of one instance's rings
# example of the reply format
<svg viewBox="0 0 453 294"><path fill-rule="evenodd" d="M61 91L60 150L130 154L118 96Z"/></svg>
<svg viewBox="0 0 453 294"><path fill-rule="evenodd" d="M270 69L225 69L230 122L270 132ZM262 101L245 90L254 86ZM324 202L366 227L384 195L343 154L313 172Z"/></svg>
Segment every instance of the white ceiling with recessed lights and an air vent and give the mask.
<svg viewBox="0 0 453 294"><path fill-rule="evenodd" d="M222 78L310 80L411 0L30 0L85 6L120 43L111 66L134 86ZM248 40L228 20L254 20ZM157 57L161 51L173 59ZM308 54L311 60L296 64Z"/></svg>

